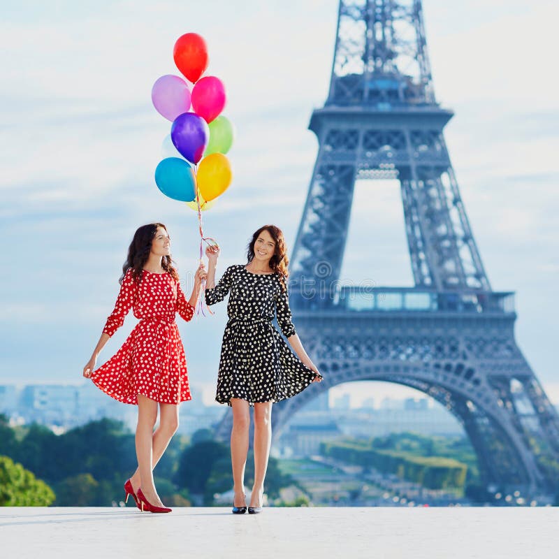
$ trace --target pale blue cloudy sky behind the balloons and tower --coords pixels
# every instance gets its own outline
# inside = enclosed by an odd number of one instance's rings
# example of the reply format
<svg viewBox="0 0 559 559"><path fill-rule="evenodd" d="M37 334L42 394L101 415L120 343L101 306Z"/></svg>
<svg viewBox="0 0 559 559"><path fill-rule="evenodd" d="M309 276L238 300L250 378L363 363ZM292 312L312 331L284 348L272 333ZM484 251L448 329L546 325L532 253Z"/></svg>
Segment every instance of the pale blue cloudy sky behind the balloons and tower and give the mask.
<svg viewBox="0 0 559 559"><path fill-rule="evenodd" d="M516 291L516 339L554 402L559 273L559 80L554 1L424 0L445 138L495 291ZM227 89L234 180L204 214L218 275L264 223L293 246L317 155L307 130L330 80L337 0L3 1L0 12L0 383L81 382L138 226L161 221L182 278L196 214L154 184L170 123L154 110L173 44L196 31ZM342 277L409 286L395 182L357 184ZM188 288L189 289L189 288ZM179 327L191 384L213 398L225 305ZM99 363L135 324L129 317ZM359 398L395 385L344 385ZM403 392L402 392L403 391Z"/></svg>

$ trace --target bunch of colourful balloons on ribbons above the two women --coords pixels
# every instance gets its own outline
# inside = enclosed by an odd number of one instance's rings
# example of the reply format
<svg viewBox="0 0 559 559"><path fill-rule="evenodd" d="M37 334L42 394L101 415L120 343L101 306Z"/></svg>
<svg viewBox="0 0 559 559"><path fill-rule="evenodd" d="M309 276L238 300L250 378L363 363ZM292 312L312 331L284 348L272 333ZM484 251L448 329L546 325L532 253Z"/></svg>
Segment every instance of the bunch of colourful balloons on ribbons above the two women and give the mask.
<svg viewBox="0 0 559 559"><path fill-rule="evenodd" d="M231 184L231 165L225 154L233 145L233 126L221 115L226 102L222 80L202 77L208 68L203 37L196 33L180 36L173 58L189 83L177 75L163 75L152 88L154 107L173 122L161 146L164 159L155 170L155 183L163 194L198 212L202 259L203 242L217 243L204 237L201 212L210 210Z"/></svg>

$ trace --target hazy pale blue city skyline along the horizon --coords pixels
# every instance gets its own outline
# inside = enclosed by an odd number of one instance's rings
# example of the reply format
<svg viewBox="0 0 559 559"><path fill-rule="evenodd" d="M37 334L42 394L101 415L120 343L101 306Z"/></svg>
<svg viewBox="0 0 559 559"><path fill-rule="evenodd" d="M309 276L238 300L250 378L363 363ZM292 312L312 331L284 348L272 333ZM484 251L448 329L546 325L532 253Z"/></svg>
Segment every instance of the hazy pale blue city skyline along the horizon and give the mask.
<svg viewBox="0 0 559 559"><path fill-rule="evenodd" d="M179 433L191 435L198 429L213 429L222 420L225 406L204 405L202 389L191 386L193 399L180 407ZM412 431L423 435L463 435L460 423L442 406L429 407L428 398L396 400L384 398L380 408L367 398L361 408L351 409L349 393L343 393L328 406L328 392L293 416L280 435L277 451L295 456L317 453L320 443L336 437L381 437ZM78 385L32 384L18 390L0 386L0 413L17 424L41 423L57 432L104 417L123 421L136 428L136 406L124 405L100 391L92 382ZM282 450L283 449L283 450Z"/></svg>

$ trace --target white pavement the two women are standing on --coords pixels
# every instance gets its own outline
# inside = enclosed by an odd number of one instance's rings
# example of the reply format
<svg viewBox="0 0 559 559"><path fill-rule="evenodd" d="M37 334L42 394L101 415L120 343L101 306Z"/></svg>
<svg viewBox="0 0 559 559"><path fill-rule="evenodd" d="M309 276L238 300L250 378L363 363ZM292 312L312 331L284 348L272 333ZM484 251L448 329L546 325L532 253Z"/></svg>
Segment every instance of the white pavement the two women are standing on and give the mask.
<svg viewBox="0 0 559 559"><path fill-rule="evenodd" d="M0 508L2 559L559 557L559 508Z"/></svg>

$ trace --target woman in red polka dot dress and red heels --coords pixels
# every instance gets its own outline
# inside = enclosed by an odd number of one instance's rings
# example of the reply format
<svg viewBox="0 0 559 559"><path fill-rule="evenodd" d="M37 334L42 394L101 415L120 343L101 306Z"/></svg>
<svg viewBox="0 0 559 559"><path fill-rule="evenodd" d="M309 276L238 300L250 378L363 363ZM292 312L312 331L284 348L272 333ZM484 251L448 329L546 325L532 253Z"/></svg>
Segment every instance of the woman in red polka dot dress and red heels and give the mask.
<svg viewBox="0 0 559 559"><path fill-rule="evenodd" d="M138 405L138 469L124 484L126 499L132 495L141 510L170 512L157 495L152 470L177 430L178 405L191 399L175 314L178 312L185 321L194 316L206 272L201 264L187 300L173 268L167 228L161 223L138 228L122 271L115 310L107 319L83 376L91 378L115 400ZM101 349L122 326L131 308L140 322L117 353L95 370ZM159 427L154 432L158 404Z"/></svg>

